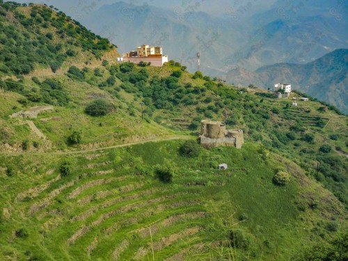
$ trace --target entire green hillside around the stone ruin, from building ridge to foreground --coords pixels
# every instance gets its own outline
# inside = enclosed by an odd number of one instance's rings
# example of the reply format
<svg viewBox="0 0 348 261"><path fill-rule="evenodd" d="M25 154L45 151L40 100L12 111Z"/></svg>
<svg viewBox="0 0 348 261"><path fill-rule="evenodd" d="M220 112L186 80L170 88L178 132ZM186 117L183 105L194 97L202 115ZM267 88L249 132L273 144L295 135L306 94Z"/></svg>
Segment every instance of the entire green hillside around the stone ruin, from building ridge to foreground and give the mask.
<svg viewBox="0 0 348 261"><path fill-rule="evenodd" d="M1 260L294 260L347 230L347 116L177 63L81 61L0 81ZM203 118L243 148L184 141Z"/></svg>

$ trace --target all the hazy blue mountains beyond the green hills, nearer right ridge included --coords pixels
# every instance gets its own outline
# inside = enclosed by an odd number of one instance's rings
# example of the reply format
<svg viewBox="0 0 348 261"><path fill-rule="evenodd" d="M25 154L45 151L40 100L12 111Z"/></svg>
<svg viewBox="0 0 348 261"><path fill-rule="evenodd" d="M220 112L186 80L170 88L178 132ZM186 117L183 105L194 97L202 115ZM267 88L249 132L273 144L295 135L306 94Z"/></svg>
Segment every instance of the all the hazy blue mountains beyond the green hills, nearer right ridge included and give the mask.
<svg viewBox="0 0 348 261"><path fill-rule="evenodd" d="M257 5L226 5L214 16L202 12L200 4L168 9L117 2L93 10L81 22L111 38L121 53L144 43L161 45L169 59L187 65L191 72L201 70L229 83L252 82L261 88L289 81L347 113L347 62L337 56L343 51L333 52L347 48L347 3L276 1L255 11ZM338 64L331 63L333 58Z"/></svg>

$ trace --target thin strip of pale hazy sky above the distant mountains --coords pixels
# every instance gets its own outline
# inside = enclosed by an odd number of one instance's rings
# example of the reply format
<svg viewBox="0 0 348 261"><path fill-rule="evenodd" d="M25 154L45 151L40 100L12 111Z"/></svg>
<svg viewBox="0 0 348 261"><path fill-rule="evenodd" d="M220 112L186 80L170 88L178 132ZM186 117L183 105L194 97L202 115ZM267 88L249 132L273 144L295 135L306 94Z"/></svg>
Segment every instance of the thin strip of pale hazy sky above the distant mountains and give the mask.
<svg viewBox="0 0 348 261"><path fill-rule="evenodd" d="M199 5L199 10L209 13L210 15L220 16L226 14L226 10L232 10L232 8L238 6L246 6L248 3L253 3L256 8L253 12L257 11L258 8L263 6L269 6L276 0L123 0L126 3L134 3L135 5L142 6L144 4L157 6L159 8L168 8L171 10L177 10L180 7L187 8L188 6ZM284 0L285 1L285 0ZM76 16L77 14L83 13L84 8L93 8L96 10L100 6L116 3L117 0L17 0L18 3L46 3L48 6L54 6L59 10L70 16ZM256 3L256 4L255 4ZM74 18L74 17L73 17Z"/></svg>

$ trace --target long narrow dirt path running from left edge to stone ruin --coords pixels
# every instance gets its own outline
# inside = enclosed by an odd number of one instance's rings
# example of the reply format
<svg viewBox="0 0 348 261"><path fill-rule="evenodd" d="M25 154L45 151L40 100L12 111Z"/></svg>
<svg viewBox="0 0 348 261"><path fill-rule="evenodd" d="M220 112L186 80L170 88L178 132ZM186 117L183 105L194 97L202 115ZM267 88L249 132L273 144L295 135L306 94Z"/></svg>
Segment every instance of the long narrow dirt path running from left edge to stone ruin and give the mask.
<svg viewBox="0 0 348 261"><path fill-rule="evenodd" d="M39 132L40 132L40 130L39 130ZM189 140L189 139L192 139L192 137L191 136L184 136L184 135L175 135L175 136L169 136L166 138L149 139L149 140L145 140L145 141L136 141L136 142L132 142L132 143L124 143L124 144L113 145L113 146L104 147L104 148L95 148L95 149L90 149L90 150L75 150L75 151L68 151L68 152L0 152L0 155L24 155L24 154L25 155L74 155L74 154L79 154L79 153L95 152L95 151L100 151L100 150L109 150L109 149L113 149L113 148L122 148L122 147L143 144L143 143L149 143L149 142Z"/></svg>

